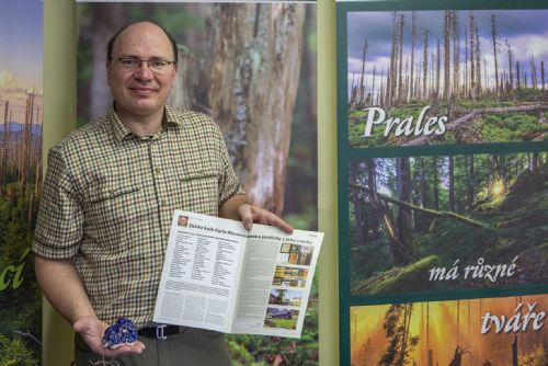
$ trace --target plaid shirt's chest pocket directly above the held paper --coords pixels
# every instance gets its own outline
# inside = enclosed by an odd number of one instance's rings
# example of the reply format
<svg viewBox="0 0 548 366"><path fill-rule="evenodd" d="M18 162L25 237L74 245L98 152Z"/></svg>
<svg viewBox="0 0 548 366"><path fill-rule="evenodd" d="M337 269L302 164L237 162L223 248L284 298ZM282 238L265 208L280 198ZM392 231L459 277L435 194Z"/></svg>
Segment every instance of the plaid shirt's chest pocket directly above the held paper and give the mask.
<svg viewBox="0 0 548 366"><path fill-rule="evenodd" d="M218 215L219 178L214 170L199 170L179 178L181 187L181 209Z"/></svg>

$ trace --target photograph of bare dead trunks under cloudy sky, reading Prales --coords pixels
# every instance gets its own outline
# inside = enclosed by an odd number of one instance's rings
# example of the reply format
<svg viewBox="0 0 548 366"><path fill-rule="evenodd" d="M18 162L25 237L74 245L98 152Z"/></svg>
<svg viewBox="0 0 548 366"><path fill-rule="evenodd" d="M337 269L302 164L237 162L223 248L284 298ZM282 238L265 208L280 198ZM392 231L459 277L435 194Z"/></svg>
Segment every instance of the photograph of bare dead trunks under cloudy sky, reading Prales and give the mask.
<svg viewBox="0 0 548 366"><path fill-rule="evenodd" d="M548 10L347 13L352 148L544 141Z"/></svg>

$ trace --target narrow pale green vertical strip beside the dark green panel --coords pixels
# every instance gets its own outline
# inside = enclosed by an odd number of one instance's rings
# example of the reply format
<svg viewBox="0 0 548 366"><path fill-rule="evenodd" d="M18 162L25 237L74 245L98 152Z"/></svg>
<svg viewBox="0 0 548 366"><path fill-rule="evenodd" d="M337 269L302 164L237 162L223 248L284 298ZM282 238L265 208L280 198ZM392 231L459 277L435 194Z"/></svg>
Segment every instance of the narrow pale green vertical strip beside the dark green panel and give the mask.
<svg viewBox="0 0 548 366"><path fill-rule="evenodd" d="M320 365L339 364L335 2L318 1L318 219L326 232L320 271Z"/></svg>

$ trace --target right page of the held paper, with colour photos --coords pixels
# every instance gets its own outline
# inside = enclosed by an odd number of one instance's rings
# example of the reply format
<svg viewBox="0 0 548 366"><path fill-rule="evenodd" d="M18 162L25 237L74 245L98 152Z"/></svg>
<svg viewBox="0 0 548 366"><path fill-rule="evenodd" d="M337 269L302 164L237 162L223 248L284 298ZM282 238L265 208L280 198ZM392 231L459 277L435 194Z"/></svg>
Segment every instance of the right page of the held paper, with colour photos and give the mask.
<svg viewBox="0 0 548 366"><path fill-rule="evenodd" d="M322 232L253 225L233 333L300 336L322 239Z"/></svg>

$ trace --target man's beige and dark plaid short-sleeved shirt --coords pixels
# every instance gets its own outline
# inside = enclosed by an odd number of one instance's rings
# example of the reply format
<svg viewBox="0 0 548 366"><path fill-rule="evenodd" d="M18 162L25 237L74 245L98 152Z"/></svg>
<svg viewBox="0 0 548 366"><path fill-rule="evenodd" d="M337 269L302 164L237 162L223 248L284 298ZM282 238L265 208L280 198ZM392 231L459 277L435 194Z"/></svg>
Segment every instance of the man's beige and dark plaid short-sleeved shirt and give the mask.
<svg viewBox="0 0 548 366"><path fill-rule="evenodd" d="M165 106L138 137L113 111L49 150L33 251L73 258L99 319L152 320L174 209L218 215L243 194L218 126Z"/></svg>

